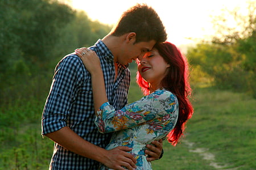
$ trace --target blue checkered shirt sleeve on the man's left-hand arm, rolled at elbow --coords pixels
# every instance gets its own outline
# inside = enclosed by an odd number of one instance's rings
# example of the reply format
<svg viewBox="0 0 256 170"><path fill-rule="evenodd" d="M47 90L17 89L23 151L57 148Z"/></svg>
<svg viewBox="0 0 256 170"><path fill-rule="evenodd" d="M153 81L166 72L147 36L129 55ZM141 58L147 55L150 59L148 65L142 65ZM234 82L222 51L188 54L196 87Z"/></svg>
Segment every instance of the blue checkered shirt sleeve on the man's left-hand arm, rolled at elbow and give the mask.
<svg viewBox="0 0 256 170"><path fill-rule="evenodd" d="M64 57L58 63L42 115L43 135L67 126L67 117L85 74L88 73L76 55Z"/></svg>

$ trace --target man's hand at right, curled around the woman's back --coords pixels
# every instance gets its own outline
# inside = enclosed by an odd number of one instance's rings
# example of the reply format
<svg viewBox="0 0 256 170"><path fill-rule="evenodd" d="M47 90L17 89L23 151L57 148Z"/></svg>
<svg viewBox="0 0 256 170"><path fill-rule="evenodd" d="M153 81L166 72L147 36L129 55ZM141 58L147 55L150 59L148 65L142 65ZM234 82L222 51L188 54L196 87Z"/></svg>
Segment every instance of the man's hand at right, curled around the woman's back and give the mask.
<svg viewBox="0 0 256 170"><path fill-rule="evenodd" d="M160 157L163 150L163 140L160 139L159 141L151 142L151 145L146 145L149 150L145 150L145 154L148 155L147 161L151 162L156 160Z"/></svg>

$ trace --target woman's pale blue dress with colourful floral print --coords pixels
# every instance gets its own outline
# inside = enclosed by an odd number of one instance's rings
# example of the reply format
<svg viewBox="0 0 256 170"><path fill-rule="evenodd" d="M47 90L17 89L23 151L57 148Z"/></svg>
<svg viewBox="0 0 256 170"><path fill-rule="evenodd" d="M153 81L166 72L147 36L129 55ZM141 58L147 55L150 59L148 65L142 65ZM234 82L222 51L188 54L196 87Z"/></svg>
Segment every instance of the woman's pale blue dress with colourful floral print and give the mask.
<svg viewBox="0 0 256 170"><path fill-rule="evenodd" d="M133 148L137 169L152 169L144 153L146 144L163 139L174 129L179 113L177 97L167 90L156 90L116 111L108 102L101 105L95 124L101 133L113 132L107 150L117 146ZM101 169L108 169L104 165Z"/></svg>

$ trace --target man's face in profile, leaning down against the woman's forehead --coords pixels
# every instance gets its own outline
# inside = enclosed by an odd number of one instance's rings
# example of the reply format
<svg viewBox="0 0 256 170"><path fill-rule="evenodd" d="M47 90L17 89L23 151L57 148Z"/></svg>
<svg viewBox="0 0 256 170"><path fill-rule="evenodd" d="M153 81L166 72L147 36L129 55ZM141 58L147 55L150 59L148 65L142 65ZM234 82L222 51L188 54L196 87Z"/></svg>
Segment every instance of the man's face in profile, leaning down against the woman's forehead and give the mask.
<svg viewBox="0 0 256 170"><path fill-rule="evenodd" d="M146 52L149 52L155 45L155 40L151 41L141 41L134 43L135 41L130 41L123 46L123 50L120 56L117 58L117 62L122 65L127 65L133 60L137 59L139 56L144 56Z"/></svg>

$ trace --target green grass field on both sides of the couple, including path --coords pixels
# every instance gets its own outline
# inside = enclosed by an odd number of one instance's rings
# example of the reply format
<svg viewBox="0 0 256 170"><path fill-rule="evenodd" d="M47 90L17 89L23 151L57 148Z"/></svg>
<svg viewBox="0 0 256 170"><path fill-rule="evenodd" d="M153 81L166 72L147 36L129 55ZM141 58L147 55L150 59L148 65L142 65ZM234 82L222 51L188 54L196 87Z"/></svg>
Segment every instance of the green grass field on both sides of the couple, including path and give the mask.
<svg viewBox="0 0 256 170"><path fill-rule="evenodd" d="M142 96L134 85L130 102ZM40 135L44 100L1 108L0 169L48 169L53 142ZM164 156L152 163L154 169L256 169L256 100L197 88L192 103L195 113L185 136L176 147L164 141Z"/></svg>

